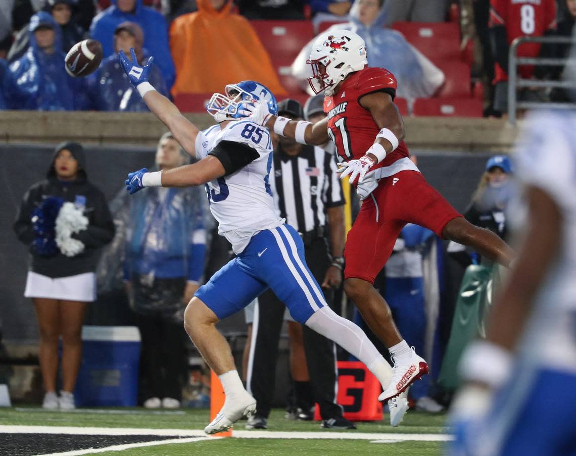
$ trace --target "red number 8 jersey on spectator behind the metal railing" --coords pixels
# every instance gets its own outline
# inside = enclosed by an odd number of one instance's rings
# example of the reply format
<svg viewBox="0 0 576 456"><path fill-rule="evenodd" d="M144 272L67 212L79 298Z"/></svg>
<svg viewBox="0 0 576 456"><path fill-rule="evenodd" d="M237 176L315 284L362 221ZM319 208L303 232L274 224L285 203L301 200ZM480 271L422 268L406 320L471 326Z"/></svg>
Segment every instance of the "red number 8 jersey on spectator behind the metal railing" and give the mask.
<svg viewBox="0 0 576 456"><path fill-rule="evenodd" d="M556 28L556 0L490 0L490 26L506 27L506 38L510 45L519 36L544 36L544 32ZM524 43L518 47L517 55L537 57L540 43ZM495 64L494 82L507 81L507 68ZM531 78L533 65L518 67L522 78Z"/></svg>

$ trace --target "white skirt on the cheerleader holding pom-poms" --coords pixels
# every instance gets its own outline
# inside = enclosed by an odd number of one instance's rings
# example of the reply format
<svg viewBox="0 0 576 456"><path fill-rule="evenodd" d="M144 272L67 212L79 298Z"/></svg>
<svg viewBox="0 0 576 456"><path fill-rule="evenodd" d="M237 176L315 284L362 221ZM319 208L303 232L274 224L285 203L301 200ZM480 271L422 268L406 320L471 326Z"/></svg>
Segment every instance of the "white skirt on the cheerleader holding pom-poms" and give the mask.
<svg viewBox="0 0 576 456"><path fill-rule="evenodd" d="M37 272L28 271L26 298L64 299L66 301L96 301L96 274L83 274L52 279Z"/></svg>

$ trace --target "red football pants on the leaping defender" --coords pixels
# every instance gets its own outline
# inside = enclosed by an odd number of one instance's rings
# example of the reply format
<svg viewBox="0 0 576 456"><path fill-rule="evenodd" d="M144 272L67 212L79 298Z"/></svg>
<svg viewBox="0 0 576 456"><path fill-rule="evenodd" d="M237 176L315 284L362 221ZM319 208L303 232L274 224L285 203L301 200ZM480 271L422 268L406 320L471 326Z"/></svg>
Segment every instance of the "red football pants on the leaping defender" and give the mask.
<svg viewBox="0 0 576 456"><path fill-rule="evenodd" d="M461 216L419 172L406 170L382 178L363 200L348 233L344 279L374 283L406 223L423 226L442 237L446 223Z"/></svg>

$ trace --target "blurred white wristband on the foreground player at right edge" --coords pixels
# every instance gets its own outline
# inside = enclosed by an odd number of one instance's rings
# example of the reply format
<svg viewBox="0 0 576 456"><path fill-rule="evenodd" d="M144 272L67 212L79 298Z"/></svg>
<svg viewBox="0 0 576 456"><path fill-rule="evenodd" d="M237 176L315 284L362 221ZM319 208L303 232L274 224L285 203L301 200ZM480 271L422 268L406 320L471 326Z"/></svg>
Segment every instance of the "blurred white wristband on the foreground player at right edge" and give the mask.
<svg viewBox="0 0 576 456"><path fill-rule="evenodd" d="M459 370L464 380L497 388L509 378L512 362L506 349L488 341L476 341L465 350Z"/></svg>

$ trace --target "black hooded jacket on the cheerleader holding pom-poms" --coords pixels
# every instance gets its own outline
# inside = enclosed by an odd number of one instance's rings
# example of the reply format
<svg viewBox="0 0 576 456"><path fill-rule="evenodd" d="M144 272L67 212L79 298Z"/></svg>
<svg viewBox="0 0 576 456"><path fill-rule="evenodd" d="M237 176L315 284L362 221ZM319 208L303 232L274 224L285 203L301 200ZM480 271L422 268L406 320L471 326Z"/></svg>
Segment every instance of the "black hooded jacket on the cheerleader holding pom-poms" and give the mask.
<svg viewBox="0 0 576 456"><path fill-rule="evenodd" d="M69 150L78 161L78 178L74 181L64 182L56 178L54 160L62 149ZM31 221L32 212L49 196L60 197L65 202L75 202L85 206L84 214L88 217L89 226L86 230L73 235L85 245L84 252L77 256L67 257L60 252L55 256L40 256L31 246L36 237ZM47 178L32 185L22 199L16 222L14 222L14 232L18 240L31 246L30 270L33 272L58 278L96 271L99 255L97 249L112 240L115 227L104 193L88 182L84 150L81 145L65 142L56 147Z"/></svg>

